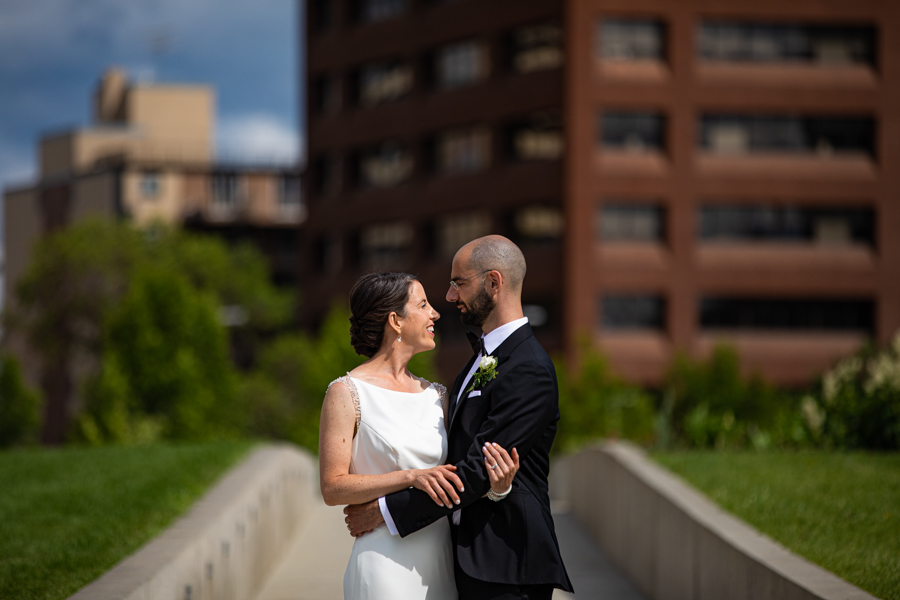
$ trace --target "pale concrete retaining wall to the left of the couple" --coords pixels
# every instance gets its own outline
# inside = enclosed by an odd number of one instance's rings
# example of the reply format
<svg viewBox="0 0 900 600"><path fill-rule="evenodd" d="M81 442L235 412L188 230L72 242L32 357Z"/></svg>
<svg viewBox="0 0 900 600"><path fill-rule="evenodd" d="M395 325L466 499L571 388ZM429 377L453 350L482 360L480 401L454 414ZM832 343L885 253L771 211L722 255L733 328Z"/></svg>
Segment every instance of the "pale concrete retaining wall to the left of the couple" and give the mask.
<svg viewBox="0 0 900 600"><path fill-rule="evenodd" d="M191 511L69 600L250 600L318 495L318 466L265 446Z"/></svg>

